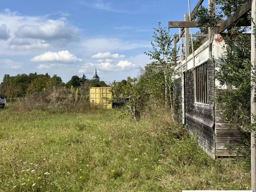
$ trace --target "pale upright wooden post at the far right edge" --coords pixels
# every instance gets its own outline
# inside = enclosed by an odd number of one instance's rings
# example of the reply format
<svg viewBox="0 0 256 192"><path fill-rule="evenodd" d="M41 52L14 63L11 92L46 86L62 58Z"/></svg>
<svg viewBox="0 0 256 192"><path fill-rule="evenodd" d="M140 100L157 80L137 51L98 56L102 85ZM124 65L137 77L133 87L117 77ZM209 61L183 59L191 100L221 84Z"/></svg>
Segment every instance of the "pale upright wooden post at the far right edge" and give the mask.
<svg viewBox="0 0 256 192"><path fill-rule="evenodd" d="M252 0L252 30L254 29L254 24L256 23L256 0ZM251 33L251 64L252 64L252 73L255 73L255 55L256 55L256 48L255 48L255 36L254 33ZM251 77L253 80L253 77ZM251 93L251 123L254 123L253 116L256 115L256 103L255 103L255 94L256 94L256 84L254 81L251 81L252 85L252 93ZM256 191L256 161L255 161L255 154L256 154L256 146L255 146L255 131L251 131L251 169L252 169L252 191Z"/></svg>

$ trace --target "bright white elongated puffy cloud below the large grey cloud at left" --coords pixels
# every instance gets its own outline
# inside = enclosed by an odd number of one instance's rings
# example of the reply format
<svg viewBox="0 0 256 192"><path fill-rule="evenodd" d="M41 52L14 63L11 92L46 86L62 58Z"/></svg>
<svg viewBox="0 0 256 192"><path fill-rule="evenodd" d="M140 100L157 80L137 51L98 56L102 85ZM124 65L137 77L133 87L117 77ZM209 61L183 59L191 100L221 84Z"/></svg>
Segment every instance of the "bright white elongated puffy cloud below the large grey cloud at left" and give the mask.
<svg viewBox="0 0 256 192"><path fill-rule="evenodd" d="M69 53L68 51L59 51L58 53L45 52L44 54L35 56L30 59L33 62L67 62L76 63L81 62L82 59L78 59L75 55Z"/></svg>

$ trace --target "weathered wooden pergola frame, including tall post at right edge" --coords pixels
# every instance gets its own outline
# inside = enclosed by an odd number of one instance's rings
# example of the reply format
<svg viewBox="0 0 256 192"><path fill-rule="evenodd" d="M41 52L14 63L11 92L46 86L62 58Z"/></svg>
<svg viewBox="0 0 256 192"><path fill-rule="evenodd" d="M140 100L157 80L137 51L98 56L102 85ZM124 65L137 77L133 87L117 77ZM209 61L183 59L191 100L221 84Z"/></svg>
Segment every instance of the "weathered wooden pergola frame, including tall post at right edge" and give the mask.
<svg viewBox="0 0 256 192"><path fill-rule="evenodd" d="M190 17L188 13L185 13L184 20L185 21L169 21L168 28L180 28L180 32L178 35L174 35L174 50L175 54L177 53L177 42L179 42L183 37L185 37L185 60L186 60L186 70L187 70L187 57L189 56L189 38L192 37L204 37L205 40L209 41L209 58L212 57L212 50L211 50L211 38L212 35L223 33L227 28L231 27L233 24L237 24L239 18L243 17L248 11L251 10L252 12L252 23L248 26L252 27L253 30L253 23L256 24L256 0L248 0L243 6L238 8L230 17L228 17L224 21L220 21L217 23L216 28L211 28L211 26L204 26L208 27L208 34L189 34L189 28L196 28L198 26L197 21L190 21L189 18L194 18L195 14L198 11L199 6L202 4L203 0L199 0L194 9L192 10ZM208 0L209 8L210 5L213 5L214 0ZM239 23L238 23L239 24ZM239 26L237 24L237 26ZM243 25L245 26L245 25ZM255 55L256 55L256 48L255 48L255 36L254 33L251 33L251 64L252 64L252 73L256 72L255 70ZM181 43L180 43L181 44ZM182 43L182 53L184 52L184 44ZM181 57L181 72L182 72L182 61L183 61L183 54ZM193 54L193 67L195 67L194 63L194 54ZM254 81L251 81L251 85L253 86L253 90L251 92L251 114L256 115L256 104L255 104L255 95L256 95L256 84ZM251 123L254 123L253 116L251 118ZM256 146L255 146L255 132L252 130L251 132L251 172L252 172L252 190L256 192Z"/></svg>

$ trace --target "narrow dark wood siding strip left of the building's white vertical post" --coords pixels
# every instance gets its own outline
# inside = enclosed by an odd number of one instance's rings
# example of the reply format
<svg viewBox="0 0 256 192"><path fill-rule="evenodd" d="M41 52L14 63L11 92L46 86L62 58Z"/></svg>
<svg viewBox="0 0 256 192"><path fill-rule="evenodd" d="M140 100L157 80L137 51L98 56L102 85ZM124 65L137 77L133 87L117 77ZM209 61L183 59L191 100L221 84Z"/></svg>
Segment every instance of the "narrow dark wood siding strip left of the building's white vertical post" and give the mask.
<svg viewBox="0 0 256 192"><path fill-rule="evenodd" d="M174 110L173 118L176 122L182 123L182 77L175 79L173 86Z"/></svg>

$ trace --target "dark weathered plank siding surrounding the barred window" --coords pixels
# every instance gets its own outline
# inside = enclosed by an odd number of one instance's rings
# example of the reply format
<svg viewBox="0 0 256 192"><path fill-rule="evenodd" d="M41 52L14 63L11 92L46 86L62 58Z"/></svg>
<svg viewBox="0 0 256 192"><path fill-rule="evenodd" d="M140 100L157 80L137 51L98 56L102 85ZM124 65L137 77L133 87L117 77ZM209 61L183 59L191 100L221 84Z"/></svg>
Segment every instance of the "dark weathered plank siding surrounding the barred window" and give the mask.
<svg viewBox="0 0 256 192"><path fill-rule="evenodd" d="M215 158L214 63L208 61L209 105L195 103L194 69L185 71L185 121L191 134L196 133L198 145Z"/></svg>

